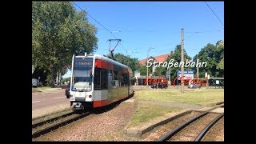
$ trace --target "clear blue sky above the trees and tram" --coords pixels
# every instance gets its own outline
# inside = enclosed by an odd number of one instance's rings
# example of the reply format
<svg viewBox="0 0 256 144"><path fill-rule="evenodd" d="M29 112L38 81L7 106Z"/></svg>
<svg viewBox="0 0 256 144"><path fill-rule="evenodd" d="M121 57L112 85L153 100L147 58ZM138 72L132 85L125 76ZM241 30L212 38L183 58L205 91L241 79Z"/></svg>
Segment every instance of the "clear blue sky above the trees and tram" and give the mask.
<svg viewBox="0 0 256 144"><path fill-rule="evenodd" d="M150 47L154 49L149 51L149 56L167 54L181 43L182 28L184 49L191 58L208 43L215 45L218 40L224 40L224 2L207 2L210 7L206 2L74 3L102 25L87 16L98 28L98 50L94 54L109 54L116 42L111 42L110 47L108 40L115 38L122 40L115 54L141 60L146 58ZM70 77L70 71L65 77Z"/></svg>

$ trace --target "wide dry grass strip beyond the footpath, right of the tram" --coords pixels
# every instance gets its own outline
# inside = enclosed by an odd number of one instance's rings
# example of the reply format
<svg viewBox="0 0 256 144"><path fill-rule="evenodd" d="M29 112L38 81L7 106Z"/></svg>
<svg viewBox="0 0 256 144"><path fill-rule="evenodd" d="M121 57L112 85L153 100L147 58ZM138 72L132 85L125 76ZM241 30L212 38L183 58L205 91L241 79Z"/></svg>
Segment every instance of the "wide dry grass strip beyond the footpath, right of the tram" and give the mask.
<svg viewBox="0 0 256 144"><path fill-rule="evenodd" d="M224 102L223 89L185 90L184 94L181 94L181 90L153 89L137 91L135 94L137 99L142 101L186 103L198 106L206 106L214 102Z"/></svg>

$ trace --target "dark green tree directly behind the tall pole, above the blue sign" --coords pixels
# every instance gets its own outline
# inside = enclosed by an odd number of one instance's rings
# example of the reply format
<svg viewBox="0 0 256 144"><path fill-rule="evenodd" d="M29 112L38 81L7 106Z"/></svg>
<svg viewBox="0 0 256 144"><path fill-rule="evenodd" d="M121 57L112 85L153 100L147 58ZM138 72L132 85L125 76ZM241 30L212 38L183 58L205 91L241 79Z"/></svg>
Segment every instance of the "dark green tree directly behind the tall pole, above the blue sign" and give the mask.
<svg viewBox="0 0 256 144"><path fill-rule="evenodd" d="M174 59L174 61L172 62L173 64L175 63L175 62L178 62L178 64L181 62L181 45L177 45L176 47L175 47L175 50L174 50L174 54L171 54L170 56L168 56L168 58L167 58L167 63L169 63L170 62L170 60L171 59ZM190 60L191 59L191 57L188 55L188 54L186 54L186 50L184 49L184 62L186 62L186 60ZM167 68L166 68L167 69ZM174 66L172 66L172 67L170 67L170 76L171 76L171 79L174 79L174 78L176 78L177 77L177 70L181 70L181 67L174 67ZM191 70L191 68L190 67L184 67L184 70ZM167 70L165 71L165 73L167 72Z"/></svg>

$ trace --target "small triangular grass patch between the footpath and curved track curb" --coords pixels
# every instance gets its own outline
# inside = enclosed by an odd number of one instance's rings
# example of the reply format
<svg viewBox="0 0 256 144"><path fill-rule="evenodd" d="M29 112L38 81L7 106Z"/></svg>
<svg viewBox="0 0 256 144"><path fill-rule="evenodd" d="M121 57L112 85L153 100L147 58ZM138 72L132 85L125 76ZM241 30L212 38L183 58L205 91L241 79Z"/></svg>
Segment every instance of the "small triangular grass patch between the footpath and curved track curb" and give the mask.
<svg viewBox="0 0 256 144"><path fill-rule="evenodd" d="M170 107L170 106L140 104L133 118L131 118L128 127L138 126L141 123L149 122L153 118L157 118L157 117L163 116L166 113L170 113L177 110L182 110L182 109L177 107Z"/></svg>

